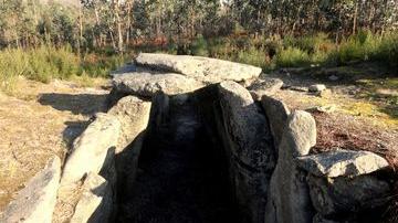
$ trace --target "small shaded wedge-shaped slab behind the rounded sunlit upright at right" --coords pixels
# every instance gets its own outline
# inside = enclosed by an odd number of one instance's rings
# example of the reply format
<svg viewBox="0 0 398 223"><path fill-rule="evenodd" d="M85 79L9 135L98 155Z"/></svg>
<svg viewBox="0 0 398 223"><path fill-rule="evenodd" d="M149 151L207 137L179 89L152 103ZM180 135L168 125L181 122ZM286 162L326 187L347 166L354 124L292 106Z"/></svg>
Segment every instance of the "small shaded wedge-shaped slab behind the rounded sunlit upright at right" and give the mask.
<svg viewBox="0 0 398 223"><path fill-rule="evenodd" d="M277 151L290 110L282 100L266 95L262 97L261 105L264 108L265 115L270 121L270 128L274 139L275 149Z"/></svg>

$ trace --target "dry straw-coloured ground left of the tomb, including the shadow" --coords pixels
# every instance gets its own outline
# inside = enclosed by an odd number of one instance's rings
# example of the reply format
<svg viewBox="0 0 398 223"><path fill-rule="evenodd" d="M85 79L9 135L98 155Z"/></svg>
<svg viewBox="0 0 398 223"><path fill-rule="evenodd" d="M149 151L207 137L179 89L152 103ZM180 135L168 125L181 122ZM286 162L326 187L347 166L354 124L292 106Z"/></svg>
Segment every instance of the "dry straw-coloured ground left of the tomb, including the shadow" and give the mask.
<svg viewBox="0 0 398 223"><path fill-rule="evenodd" d="M17 88L0 93L0 212L51 156L65 157L108 94L61 81L19 79Z"/></svg>

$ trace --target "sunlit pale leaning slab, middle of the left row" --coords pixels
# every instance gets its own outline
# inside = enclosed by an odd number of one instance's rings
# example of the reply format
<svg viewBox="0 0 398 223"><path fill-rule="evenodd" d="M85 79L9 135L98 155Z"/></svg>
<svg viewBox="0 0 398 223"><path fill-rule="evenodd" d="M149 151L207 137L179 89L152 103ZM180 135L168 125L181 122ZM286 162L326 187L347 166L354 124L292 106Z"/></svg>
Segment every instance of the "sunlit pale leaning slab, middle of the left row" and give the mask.
<svg viewBox="0 0 398 223"><path fill-rule="evenodd" d="M95 120L74 141L67 158L61 184L73 184L88 172L98 173L104 163L113 159L109 150L117 146L121 131L119 120L112 115L97 114Z"/></svg>

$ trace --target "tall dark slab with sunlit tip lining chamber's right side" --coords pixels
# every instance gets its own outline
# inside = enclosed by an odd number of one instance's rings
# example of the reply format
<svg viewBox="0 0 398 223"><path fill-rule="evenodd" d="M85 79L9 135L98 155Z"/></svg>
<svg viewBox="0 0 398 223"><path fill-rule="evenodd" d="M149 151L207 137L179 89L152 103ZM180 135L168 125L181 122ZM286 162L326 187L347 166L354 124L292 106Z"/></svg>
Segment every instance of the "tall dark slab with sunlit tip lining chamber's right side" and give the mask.
<svg viewBox="0 0 398 223"><path fill-rule="evenodd" d="M232 187L248 217L244 221L264 222L266 194L275 166L269 124L241 85L222 82L219 96Z"/></svg>

